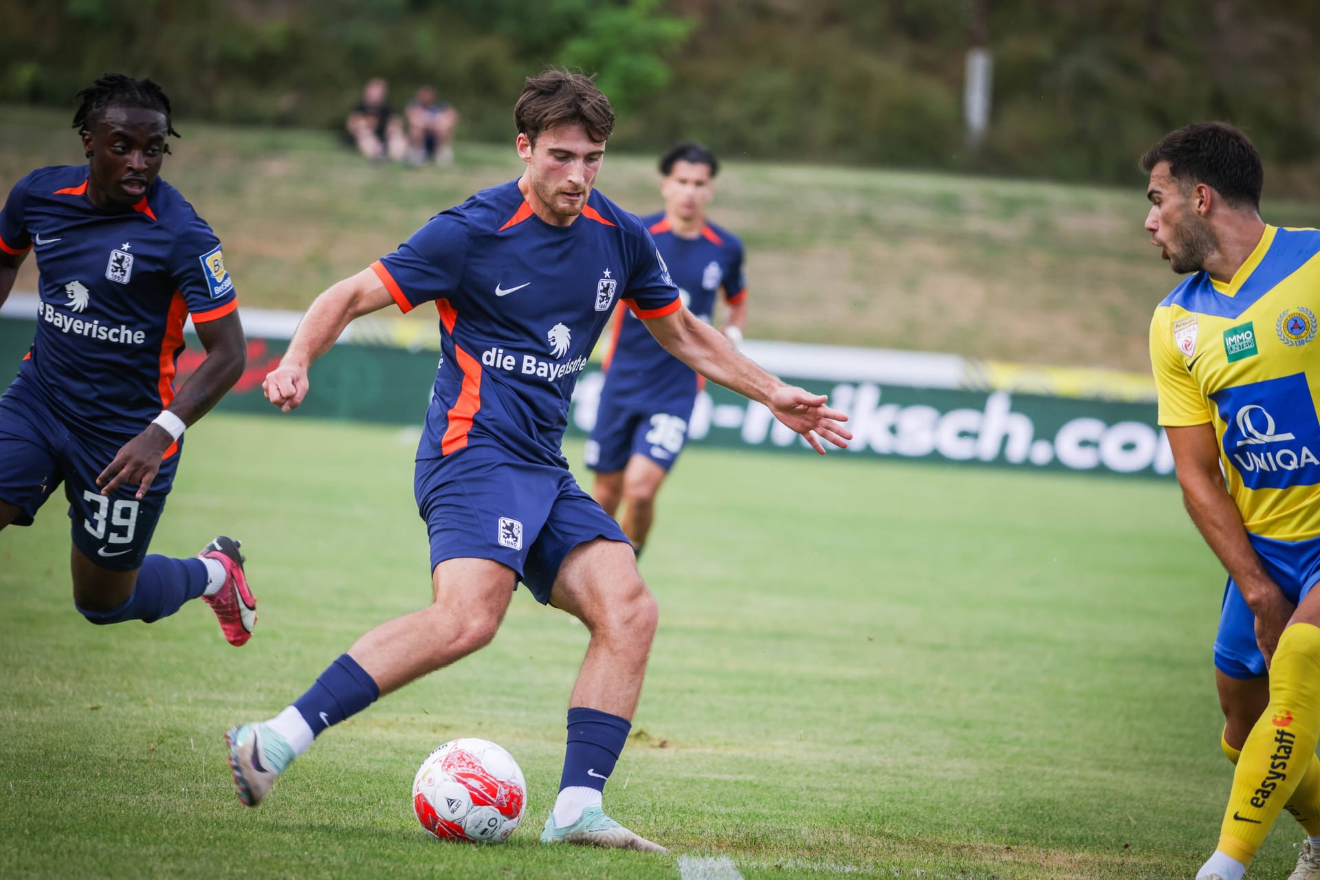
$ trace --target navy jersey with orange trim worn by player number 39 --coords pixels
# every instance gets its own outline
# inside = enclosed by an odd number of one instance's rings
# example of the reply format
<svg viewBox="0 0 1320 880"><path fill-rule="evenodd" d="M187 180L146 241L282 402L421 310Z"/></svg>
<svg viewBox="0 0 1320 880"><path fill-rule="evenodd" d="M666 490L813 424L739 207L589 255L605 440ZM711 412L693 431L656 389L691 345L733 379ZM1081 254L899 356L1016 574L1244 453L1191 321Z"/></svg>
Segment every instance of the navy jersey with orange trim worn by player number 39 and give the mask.
<svg viewBox="0 0 1320 880"><path fill-rule="evenodd" d="M87 168L41 168L0 211L0 249L34 249L37 335L15 383L73 429L129 438L174 397L183 322L238 306L220 241L157 178L131 210L96 207Z"/></svg>

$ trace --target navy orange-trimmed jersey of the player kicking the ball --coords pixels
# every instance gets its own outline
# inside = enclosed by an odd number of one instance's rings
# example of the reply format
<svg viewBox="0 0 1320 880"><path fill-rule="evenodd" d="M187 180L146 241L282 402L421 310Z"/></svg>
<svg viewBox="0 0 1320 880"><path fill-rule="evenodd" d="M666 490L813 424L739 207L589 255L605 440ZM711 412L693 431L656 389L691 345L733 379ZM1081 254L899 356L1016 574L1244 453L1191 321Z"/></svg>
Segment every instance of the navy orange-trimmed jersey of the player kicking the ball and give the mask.
<svg viewBox="0 0 1320 880"><path fill-rule="evenodd" d="M437 214L372 269L404 311L440 311L420 459L494 446L566 467L573 387L615 302L648 318L681 307L635 215L593 191L577 220L550 226L516 181Z"/></svg>

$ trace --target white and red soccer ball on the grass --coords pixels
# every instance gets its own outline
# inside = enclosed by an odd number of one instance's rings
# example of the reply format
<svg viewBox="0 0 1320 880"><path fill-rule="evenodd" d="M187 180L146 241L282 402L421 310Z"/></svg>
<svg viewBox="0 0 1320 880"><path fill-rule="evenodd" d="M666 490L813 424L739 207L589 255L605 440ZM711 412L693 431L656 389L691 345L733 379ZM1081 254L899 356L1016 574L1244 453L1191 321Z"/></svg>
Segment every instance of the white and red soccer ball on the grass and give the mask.
<svg viewBox="0 0 1320 880"><path fill-rule="evenodd" d="M527 809L527 782L513 756L465 736L426 756L413 777L413 810L441 840L504 843Z"/></svg>

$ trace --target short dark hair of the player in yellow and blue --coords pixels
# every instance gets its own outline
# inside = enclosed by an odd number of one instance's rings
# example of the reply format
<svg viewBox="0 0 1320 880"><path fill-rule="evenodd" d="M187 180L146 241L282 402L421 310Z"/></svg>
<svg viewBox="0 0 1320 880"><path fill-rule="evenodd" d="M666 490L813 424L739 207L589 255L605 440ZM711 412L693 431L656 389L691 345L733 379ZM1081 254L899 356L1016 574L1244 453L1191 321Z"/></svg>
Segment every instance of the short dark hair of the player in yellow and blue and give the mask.
<svg viewBox="0 0 1320 880"><path fill-rule="evenodd" d="M1142 156L1150 174L1168 162L1168 174L1180 185L1205 183L1234 207L1261 207L1265 169L1255 144L1228 123L1196 123L1170 132Z"/></svg>

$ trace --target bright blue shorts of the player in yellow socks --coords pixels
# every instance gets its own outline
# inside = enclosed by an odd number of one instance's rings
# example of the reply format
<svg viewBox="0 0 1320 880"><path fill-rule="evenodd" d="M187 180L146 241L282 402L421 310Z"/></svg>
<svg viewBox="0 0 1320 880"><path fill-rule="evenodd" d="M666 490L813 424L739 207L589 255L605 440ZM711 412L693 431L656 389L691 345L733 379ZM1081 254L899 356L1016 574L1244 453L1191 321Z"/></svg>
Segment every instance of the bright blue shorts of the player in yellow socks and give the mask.
<svg viewBox="0 0 1320 880"><path fill-rule="evenodd" d="M1247 534L1266 573L1292 604L1300 603L1320 581L1320 538L1276 541ZM1224 588L1220 631L1214 639L1214 668L1230 678L1259 678L1266 674L1265 657L1255 644L1255 615L1229 578Z"/></svg>

